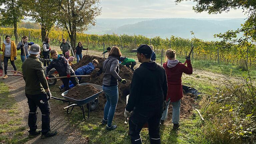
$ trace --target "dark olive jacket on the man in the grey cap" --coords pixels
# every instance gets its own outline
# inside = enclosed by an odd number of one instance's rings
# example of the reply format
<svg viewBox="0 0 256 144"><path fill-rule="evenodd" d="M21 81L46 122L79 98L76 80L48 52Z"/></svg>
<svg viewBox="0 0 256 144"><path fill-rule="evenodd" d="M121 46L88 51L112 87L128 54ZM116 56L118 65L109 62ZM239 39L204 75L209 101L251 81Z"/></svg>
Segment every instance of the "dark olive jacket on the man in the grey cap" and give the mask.
<svg viewBox="0 0 256 144"><path fill-rule="evenodd" d="M22 73L25 80L25 93L38 95L48 89L48 83L44 76L43 63L35 56L29 56L22 64Z"/></svg>

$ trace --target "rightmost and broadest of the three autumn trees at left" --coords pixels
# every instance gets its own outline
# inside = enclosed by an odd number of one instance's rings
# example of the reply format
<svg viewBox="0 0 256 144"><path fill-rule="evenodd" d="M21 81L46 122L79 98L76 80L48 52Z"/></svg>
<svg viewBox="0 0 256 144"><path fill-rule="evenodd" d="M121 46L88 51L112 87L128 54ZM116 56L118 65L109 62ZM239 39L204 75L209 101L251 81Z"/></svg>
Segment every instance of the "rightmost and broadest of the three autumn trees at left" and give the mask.
<svg viewBox="0 0 256 144"><path fill-rule="evenodd" d="M72 48L76 47L76 33L95 25L100 14L100 0L62 0L58 25L67 30Z"/></svg>

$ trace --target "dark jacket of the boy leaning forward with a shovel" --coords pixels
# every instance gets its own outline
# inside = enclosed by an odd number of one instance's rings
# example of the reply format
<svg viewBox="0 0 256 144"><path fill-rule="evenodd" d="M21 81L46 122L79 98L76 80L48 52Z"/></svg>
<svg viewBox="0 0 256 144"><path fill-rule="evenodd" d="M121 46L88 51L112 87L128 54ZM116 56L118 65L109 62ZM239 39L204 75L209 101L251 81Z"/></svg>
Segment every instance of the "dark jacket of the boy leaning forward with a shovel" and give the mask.
<svg viewBox="0 0 256 144"><path fill-rule="evenodd" d="M75 73L69 65L68 60L60 55L58 55L57 59L52 59L51 63L46 68L45 76L49 75L49 72L52 68L55 68L57 70L60 77L67 76L67 74Z"/></svg>

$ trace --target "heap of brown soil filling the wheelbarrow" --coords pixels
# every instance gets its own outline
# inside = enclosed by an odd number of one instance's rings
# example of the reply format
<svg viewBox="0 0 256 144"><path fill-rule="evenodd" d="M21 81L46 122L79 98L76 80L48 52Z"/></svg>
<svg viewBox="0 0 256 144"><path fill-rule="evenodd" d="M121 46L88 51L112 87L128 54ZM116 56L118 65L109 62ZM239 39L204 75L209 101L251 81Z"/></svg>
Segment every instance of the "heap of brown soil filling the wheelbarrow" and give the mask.
<svg viewBox="0 0 256 144"><path fill-rule="evenodd" d="M83 100L98 92L99 90L92 85L77 85L68 90L67 96L76 100Z"/></svg>

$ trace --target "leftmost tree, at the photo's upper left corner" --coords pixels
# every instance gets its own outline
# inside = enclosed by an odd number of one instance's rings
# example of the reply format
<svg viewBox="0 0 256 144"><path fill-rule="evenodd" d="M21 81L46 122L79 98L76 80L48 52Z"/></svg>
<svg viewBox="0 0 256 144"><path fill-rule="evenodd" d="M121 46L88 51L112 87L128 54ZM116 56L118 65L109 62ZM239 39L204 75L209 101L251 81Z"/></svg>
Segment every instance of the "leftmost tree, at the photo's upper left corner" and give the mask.
<svg viewBox="0 0 256 144"><path fill-rule="evenodd" d="M0 4L4 6L0 9L2 25L12 25L14 27L16 43L18 43L17 23L24 19L26 15L27 5L25 2L23 0L0 1Z"/></svg>

